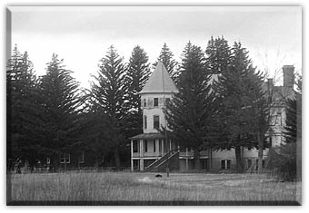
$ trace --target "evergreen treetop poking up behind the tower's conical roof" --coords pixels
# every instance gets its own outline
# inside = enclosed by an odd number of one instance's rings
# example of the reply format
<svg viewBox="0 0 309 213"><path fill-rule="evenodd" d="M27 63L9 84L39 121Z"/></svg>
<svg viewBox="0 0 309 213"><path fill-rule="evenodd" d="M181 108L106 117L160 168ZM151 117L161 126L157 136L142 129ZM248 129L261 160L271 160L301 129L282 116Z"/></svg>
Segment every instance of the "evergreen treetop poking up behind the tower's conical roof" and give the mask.
<svg viewBox="0 0 309 213"><path fill-rule="evenodd" d="M177 62L173 59L174 53L168 48L167 44L164 43L163 48L161 49L160 55L157 58L157 61L160 61L164 64L164 67L171 76L171 78L175 81L177 78L177 71L176 66ZM155 62L153 65L156 66L157 62Z"/></svg>

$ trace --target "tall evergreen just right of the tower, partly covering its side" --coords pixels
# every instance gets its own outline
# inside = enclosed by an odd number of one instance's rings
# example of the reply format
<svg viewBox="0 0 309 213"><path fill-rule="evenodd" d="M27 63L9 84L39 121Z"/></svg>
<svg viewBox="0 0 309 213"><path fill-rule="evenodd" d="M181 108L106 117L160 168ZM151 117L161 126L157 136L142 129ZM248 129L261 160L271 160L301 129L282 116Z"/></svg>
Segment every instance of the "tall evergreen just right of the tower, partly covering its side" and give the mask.
<svg viewBox="0 0 309 213"><path fill-rule="evenodd" d="M182 147L194 149L195 168L199 169L199 151L210 146L209 130L215 111L210 75L201 48L188 43L183 52L179 75L179 93L164 111L169 136Z"/></svg>

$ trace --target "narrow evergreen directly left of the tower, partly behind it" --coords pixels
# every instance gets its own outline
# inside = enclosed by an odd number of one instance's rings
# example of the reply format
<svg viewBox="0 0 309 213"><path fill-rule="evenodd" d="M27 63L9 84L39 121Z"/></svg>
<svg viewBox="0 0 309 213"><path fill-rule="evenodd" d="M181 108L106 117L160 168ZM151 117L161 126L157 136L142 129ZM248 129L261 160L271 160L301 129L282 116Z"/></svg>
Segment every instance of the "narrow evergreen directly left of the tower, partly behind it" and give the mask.
<svg viewBox="0 0 309 213"><path fill-rule="evenodd" d="M128 84L128 104L130 105L130 119L126 123L127 138L143 132L143 111L141 110L141 96L145 82L150 75L148 56L139 46L135 46L127 68L126 81Z"/></svg>

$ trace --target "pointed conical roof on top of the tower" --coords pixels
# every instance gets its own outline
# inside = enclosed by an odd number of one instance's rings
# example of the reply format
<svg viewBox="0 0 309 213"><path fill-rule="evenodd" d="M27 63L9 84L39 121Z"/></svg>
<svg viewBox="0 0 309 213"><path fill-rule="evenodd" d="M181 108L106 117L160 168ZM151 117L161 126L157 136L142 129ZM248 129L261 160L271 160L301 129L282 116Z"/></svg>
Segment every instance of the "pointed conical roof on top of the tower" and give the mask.
<svg viewBox="0 0 309 213"><path fill-rule="evenodd" d="M158 62L154 69L154 73L150 76L148 82L145 83L143 90L140 93L172 93L178 92L174 81L167 73L164 64Z"/></svg>

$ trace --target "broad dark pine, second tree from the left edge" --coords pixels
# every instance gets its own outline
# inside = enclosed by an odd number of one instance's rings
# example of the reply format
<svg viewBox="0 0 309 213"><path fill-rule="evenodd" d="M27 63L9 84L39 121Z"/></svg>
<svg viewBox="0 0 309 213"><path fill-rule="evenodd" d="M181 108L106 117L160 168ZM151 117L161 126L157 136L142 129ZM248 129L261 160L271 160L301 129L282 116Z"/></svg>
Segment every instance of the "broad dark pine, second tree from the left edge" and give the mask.
<svg viewBox="0 0 309 213"><path fill-rule="evenodd" d="M79 83L63 63L64 60L59 60L54 53L39 86L42 112L37 122L36 149L50 158L55 168L60 156L74 150L82 137L80 112L83 102L78 91Z"/></svg>

